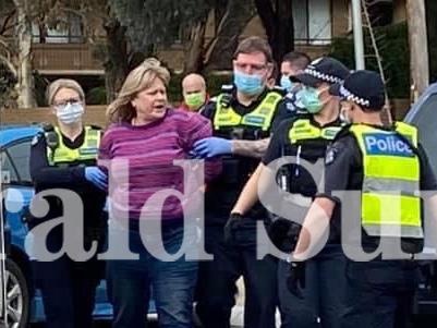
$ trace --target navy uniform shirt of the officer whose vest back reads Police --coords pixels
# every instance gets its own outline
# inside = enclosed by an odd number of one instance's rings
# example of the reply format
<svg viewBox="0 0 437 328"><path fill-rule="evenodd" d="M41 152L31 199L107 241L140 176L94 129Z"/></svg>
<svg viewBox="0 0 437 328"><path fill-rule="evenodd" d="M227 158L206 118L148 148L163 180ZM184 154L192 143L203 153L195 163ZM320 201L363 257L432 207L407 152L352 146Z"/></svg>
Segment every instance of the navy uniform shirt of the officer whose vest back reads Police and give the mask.
<svg viewBox="0 0 437 328"><path fill-rule="evenodd" d="M374 126L379 130L392 131L392 127ZM417 147L420 160L420 187L421 191L436 191L437 181L430 168L426 153L421 144ZM325 191L317 197L327 197L336 202L331 223L340 229L340 199L333 195L336 191L361 191L363 187L363 156L355 137L344 127L335 143L328 148L325 157ZM368 239L363 230L363 243L375 243L375 239Z"/></svg>

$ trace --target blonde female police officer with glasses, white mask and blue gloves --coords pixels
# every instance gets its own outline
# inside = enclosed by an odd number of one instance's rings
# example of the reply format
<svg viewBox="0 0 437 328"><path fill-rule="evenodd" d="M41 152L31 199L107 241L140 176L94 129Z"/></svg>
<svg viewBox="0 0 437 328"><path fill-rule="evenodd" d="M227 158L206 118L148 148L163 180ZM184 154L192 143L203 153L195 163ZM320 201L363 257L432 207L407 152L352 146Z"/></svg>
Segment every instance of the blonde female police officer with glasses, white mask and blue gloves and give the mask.
<svg viewBox="0 0 437 328"><path fill-rule="evenodd" d="M31 175L36 193L51 189L75 192L82 201L83 212L62 204L56 195L47 196L49 211L44 218L31 216L32 229L50 219L66 217L69 220L83 219L84 250L93 242L104 243L106 235L107 179L96 167L97 150L101 131L84 126L82 117L85 109L84 92L73 80L57 80L47 89L47 100L58 119L57 126L44 125L35 136L31 149ZM53 192L54 193L54 192ZM68 233L68 231L66 231ZM39 244L40 243L40 244ZM59 252L63 244L61 224L47 236L45 246L51 253ZM43 247L34 238L32 247ZM34 258L33 276L36 287L41 290L44 308L49 328L86 328L93 326L95 291L105 268L97 256L85 262L75 262L68 255L50 262Z"/></svg>

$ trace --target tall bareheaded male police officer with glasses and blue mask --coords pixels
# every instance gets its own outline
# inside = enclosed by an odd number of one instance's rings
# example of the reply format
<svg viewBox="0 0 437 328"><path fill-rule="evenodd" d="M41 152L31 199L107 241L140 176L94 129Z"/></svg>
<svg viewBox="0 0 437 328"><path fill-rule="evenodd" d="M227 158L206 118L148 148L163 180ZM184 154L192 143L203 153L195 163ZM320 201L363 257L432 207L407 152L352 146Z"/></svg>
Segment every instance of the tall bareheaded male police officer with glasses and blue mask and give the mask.
<svg viewBox="0 0 437 328"><path fill-rule="evenodd" d="M215 258L201 263L196 311L207 328L230 327L235 281L241 276L246 290L245 327L275 327L277 262L271 257L257 260L255 253L256 220L266 219L264 209L258 206L246 220L226 224L241 189L258 165L257 151L266 148L253 146L268 141L275 121L290 114L282 95L266 86L271 62L266 40L250 37L241 41L233 60L234 86L202 112L210 119L215 136L201 141L195 155L229 154L222 158L222 174L206 191L205 243ZM232 141L244 142L244 156L231 155Z"/></svg>

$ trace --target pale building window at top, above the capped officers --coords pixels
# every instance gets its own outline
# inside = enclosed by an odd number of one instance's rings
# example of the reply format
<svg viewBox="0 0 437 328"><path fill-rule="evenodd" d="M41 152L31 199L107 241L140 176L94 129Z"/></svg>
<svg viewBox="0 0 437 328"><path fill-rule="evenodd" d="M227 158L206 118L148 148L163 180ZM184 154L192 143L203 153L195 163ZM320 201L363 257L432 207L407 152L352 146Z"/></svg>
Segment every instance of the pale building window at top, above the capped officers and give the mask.
<svg viewBox="0 0 437 328"><path fill-rule="evenodd" d="M292 1L295 44L329 45L331 42L331 1Z"/></svg>

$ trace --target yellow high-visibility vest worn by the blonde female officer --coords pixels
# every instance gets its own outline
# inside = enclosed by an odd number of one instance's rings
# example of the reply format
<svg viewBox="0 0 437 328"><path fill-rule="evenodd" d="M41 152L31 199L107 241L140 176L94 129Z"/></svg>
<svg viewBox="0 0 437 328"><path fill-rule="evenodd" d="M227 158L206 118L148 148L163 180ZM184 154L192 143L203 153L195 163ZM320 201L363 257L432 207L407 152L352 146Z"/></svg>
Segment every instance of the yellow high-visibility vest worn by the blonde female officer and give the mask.
<svg viewBox="0 0 437 328"><path fill-rule="evenodd" d="M58 127L54 127L58 135L59 145L53 150L47 147L47 158L49 165L56 166L60 163L69 163L75 161L93 160L97 158L98 147L100 144L100 131L92 126L85 126L84 143L80 148L71 149L65 146L62 141L62 134ZM54 153L53 153L54 151Z"/></svg>

